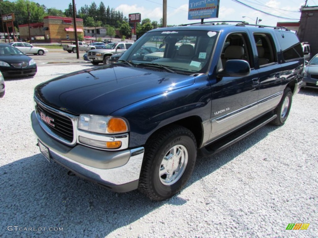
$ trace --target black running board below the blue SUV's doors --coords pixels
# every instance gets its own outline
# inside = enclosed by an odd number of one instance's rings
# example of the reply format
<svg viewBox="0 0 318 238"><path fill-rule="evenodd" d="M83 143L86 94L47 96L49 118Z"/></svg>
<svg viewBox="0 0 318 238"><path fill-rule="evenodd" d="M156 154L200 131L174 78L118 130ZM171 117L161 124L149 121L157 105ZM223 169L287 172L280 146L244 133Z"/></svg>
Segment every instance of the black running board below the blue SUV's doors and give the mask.
<svg viewBox="0 0 318 238"><path fill-rule="evenodd" d="M198 151L198 154L201 156L208 156L213 155L228 146L238 142L239 140L243 139L245 136L252 134L257 129L261 128L262 126L266 125L268 122L275 119L277 115L264 115L255 121L247 124L246 126L235 130L233 133L226 135L214 142L210 145L207 145Z"/></svg>

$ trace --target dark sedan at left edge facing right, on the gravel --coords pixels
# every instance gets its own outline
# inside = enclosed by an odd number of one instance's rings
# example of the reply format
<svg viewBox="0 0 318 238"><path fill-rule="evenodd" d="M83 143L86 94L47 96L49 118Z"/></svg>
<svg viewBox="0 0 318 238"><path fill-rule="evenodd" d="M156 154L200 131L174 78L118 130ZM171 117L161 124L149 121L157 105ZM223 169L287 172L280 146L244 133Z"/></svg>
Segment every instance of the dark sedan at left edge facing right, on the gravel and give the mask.
<svg viewBox="0 0 318 238"><path fill-rule="evenodd" d="M17 48L0 44L0 71L4 77L34 76L37 64Z"/></svg>

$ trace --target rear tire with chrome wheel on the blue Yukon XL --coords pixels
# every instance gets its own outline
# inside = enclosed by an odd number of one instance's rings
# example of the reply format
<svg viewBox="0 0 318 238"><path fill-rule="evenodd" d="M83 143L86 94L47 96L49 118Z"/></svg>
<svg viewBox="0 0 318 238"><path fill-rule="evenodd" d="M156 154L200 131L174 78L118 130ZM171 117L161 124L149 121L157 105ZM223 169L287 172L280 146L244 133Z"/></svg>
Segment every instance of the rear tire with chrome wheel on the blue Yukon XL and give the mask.
<svg viewBox="0 0 318 238"><path fill-rule="evenodd" d="M286 88L283 93L283 97L280 100L280 103L274 109L274 115L276 114L277 117L271 121L271 124L276 126L281 126L285 123L289 111L292 105L292 91L290 88Z"/></svg>

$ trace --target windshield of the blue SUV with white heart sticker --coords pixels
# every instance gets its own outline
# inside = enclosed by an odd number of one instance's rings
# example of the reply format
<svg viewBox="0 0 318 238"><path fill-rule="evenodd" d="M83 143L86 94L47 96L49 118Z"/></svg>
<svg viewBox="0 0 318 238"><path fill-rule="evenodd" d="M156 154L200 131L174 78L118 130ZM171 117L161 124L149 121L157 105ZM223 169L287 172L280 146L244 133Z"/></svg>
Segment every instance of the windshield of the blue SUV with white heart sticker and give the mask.
<svg viewBox="0 0 318 238"><path fill-rule="evenodd" d="M206 73L217 36L218 32L201 30L149 32L120 59L140 66L159 64L173 71Z"/></svg>

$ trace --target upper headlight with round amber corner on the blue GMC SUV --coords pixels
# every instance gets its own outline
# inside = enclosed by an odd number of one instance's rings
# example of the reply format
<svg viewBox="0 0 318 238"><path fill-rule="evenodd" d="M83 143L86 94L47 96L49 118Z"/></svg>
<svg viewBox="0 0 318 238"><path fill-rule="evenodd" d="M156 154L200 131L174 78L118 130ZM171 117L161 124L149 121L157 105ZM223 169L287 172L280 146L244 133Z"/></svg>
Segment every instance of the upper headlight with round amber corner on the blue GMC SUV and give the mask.
<svg viewBox="0 0 318 238"><path fill-rule="evenodd" d="M119 117L112 116L82 114L79 115L78 126L81 130L100 134L116 134L128 132L127 123Z"/></svg>

